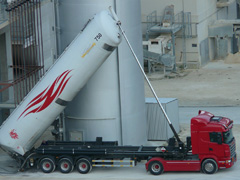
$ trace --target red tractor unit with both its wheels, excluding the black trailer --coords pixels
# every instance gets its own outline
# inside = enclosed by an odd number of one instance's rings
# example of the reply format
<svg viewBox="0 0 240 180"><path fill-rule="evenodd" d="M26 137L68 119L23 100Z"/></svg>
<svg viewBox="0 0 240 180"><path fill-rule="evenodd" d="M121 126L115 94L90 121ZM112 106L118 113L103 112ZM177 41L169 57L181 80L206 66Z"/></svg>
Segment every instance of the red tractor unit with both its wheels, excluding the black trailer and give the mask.
<svg viewBox="0 0 240 180"><path fill-rule="evenodd" d="M202 171L213 174L218 169L230 168L237 161L235 138L232 133L233 121L199 111L191 119L191 138L187 144L168 156L152 157L145 164L147 171L160 175L164 171ZM166 149L169 146L166 147Z"/></svg>

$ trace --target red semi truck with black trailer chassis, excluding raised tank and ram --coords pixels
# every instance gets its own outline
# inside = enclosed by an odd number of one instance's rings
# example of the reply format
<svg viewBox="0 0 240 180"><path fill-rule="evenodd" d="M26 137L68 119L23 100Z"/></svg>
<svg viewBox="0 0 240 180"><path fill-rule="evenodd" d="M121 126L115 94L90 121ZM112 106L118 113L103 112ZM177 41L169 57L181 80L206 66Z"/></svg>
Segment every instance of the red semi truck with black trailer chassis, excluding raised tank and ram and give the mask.
<svg viewBox="0 0 240 180"><path fill-rule="evenodd" d="M186 143L170 138L167 146L118 146L118 142L47 141L34 150L28 166L38 165L50 173L56 167L69 173L74 167L86 174L92 167L133 167L146 162L146 170L153 175L163 171L203 171L213 174L230 168L237 160L233 121L199 111L191 119L191 137Z"/></svg>

